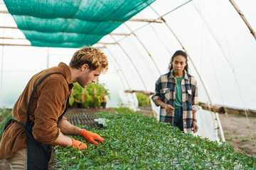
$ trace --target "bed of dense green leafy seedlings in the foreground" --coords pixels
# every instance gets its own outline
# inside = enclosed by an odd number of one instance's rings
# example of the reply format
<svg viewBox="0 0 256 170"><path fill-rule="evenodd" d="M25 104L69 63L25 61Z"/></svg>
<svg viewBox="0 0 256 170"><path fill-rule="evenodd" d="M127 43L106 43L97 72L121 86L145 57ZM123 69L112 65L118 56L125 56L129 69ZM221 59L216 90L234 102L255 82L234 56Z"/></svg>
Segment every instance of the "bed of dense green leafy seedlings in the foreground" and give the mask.
<svg viewBox="0 0 256 170"><path fill-rule="evenodd" d="M145 118L122 108L97 113L107 118L107 129L89 129L105 138L105 144L87 149L55 147L55 159L63 169L256 169L256 158L234 152L231 145L183 134L167 123Z"/></svg>

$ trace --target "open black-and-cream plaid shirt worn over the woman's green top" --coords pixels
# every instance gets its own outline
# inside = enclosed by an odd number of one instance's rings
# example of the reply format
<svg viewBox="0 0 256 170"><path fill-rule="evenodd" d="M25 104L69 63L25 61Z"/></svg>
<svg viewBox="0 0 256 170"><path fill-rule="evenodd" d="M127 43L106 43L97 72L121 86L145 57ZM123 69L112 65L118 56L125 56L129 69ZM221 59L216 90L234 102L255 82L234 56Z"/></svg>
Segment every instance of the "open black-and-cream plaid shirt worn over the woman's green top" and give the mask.
<svg viewBox="0 0 256 170"><path fill-rule="evenodd" d="M182 89L182 107L183 107L183 128L185 133L192 132L193 113L199 110L198 108L198 87L195 77L192 77L184 70L184 79L181 81ZM175 107L176 83L173 72L168 72L161 75L156 81L156 94L152 96L152 100L159 99L164 103L168 103ZM156 105L158 106L158 105ZM171 123L174 125L174 112L167 113L165 108L160 108L161 122Z"/></svg>

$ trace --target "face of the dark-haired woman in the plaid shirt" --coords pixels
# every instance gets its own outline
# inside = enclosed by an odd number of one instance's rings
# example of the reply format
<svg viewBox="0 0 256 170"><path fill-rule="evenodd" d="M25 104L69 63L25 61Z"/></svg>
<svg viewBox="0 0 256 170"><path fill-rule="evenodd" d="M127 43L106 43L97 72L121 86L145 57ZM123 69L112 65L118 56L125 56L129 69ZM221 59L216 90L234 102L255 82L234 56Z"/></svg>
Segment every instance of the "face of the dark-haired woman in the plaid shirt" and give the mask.
<svg viewBox="0 0 256 170"><path fill-rule="evenodd" d="M174 73L175 74L183 74L183 71L186 67L186 58L182 55L177 55L174 57L174 61L171 62L173 65Z"/></svg>

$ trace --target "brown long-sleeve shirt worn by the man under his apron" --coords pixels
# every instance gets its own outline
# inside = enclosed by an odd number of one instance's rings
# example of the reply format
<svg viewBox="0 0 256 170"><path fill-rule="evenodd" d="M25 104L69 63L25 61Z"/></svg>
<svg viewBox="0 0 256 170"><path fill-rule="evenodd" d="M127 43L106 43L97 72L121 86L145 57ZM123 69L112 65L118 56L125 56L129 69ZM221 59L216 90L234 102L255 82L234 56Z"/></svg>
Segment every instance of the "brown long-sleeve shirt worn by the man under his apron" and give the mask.
<svg viewBox="0 0 256 170"><path fill-rule="evenodd" d="M28 101L33 88L41 78L52 72L61 72L66 79L62 74L51 74L46 79L43 79L33 95L30 107L30 120L31 123L34 123L33 136L36 140L46 145L51 145L57 139L60 134L61 123L66 120L63 117L57 127L58 117L63 113L66 101L73 88L68 65L60 62L58 67L45 69L35 74L28 81L26 88L16 101L12 113L15 120L24 125L26 124ZM11 123L1 138L0 159L10 158L16 150L25 147L27 147L25 129L16 122Z"/></svg>

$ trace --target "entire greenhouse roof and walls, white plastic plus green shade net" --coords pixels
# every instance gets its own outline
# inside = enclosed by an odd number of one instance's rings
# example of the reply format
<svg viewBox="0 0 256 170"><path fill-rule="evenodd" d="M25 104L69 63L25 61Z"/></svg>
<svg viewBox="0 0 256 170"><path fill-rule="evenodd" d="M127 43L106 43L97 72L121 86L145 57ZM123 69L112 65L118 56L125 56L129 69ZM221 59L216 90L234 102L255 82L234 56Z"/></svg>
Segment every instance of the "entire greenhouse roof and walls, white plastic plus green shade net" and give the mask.
<svg viewBox="0 0 256 170"><path fill-rule="evenodd" d="M198 111L201 130L211 125L206 137L217 139L221 129L213 106L256 110L254 0L0 2L1 106L14 105L31 75L93 45L110 61L100 77L110 89L108 107L137 108L135 94L124 91L154 92L171 56L184 50L209 110Z"/></svg>

